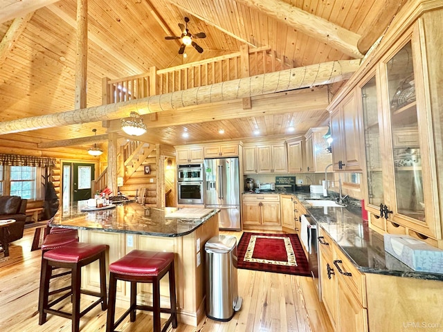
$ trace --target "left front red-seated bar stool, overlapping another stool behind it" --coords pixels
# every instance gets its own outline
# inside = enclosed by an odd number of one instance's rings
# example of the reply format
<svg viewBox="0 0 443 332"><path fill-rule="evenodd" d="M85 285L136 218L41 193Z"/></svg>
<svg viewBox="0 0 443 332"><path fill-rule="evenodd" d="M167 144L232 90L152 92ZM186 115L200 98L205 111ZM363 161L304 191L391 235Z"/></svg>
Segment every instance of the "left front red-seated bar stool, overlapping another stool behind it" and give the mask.
<svg viewBox="0 0 443 332"><path fill-rule="evenodd" d="M51 235L51 234L49 234ZM48 235L48 236L49 236ZM72 331L78 332L80 326L80 317L88 313L94 306L102 304L102 310L107 309L107 293L106 293L106 266L105 252L108 246L105 244L91 244L82 242L72 242L56 248L48 250L42 256L42 271L40 276L39 291L39 325L46 322L46 314L51 313L72 320ZM86 291L80 289L81 284L81 268L87 266L93 261L100 262L100 293ZM49 281L53 268L69 268L71 270L71 286L64 288L68 293L48 302L49 295L58 293L49 292ZM98 297L88 308L80 311L80 294L87 294ZM73 310L71 313L51 308L55 304L61 302L66 297L72 295Z"/></svg>

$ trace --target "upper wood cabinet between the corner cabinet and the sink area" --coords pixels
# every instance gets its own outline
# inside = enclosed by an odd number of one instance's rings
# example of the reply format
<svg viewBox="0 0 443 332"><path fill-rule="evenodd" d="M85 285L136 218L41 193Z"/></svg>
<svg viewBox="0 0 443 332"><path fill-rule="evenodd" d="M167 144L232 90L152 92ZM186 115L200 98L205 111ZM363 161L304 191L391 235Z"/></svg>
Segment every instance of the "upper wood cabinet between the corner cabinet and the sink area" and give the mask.
<svg viewBox="0 0 443 332"><path fill-rule="evenodd" d="M327 133L327 127L311 128L305 134L307 172L325 172L327 165L332 163L332 156L327 151L327 142L323 136Z"/></svg>

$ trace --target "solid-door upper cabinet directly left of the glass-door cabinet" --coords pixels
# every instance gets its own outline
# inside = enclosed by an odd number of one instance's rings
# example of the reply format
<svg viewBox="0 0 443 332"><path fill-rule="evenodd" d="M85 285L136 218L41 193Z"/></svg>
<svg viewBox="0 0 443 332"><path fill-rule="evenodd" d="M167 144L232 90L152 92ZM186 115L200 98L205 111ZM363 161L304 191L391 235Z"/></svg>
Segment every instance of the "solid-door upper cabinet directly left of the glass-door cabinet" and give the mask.
<svg viewBox="0 0 443 332"><path fill-rule="evenodd" d="M336 172L361 172L361 112L356 94L349 93L331 111L332 163Z"/></svg>

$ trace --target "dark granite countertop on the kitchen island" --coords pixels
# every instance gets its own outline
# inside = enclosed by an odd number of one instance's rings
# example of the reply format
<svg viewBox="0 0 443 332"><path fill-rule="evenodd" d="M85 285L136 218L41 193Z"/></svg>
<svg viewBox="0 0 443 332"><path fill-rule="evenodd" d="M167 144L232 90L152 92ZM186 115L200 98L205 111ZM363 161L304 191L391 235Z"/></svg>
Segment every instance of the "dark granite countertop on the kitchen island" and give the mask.
<svg viewBox="0 0 443 332"><path fill-rule="evenodd" d="M218 209L212 209L209 214L201 219L170 218L165 217L165 215L176 212L179 209L152 208L138 203L116 205L115 208L107 210L82 212L81 210L87 207L86 202L79 201L78 204L75 203L69 209L57 213L51 226L143 234L157 237L183 237L199 228L199 226L219 212Z"/></svg>

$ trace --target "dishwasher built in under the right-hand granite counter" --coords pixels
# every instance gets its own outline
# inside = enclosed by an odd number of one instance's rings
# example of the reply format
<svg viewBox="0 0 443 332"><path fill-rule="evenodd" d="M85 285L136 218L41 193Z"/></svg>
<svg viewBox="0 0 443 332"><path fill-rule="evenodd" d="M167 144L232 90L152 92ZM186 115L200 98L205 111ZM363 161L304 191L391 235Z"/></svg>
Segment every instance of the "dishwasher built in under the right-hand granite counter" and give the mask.
<svg viewBox="0 0 443 332"><path fill-rule="evenodd" d="M318 239L317 239L317 225L309 215L302 214L300 217L301 232L300 238L302 245L305 246L308 253L307 260L309 264L309 271L314 281L314 287L321 301L321 284L320 284L320 257L318 257Z"/></svg>

